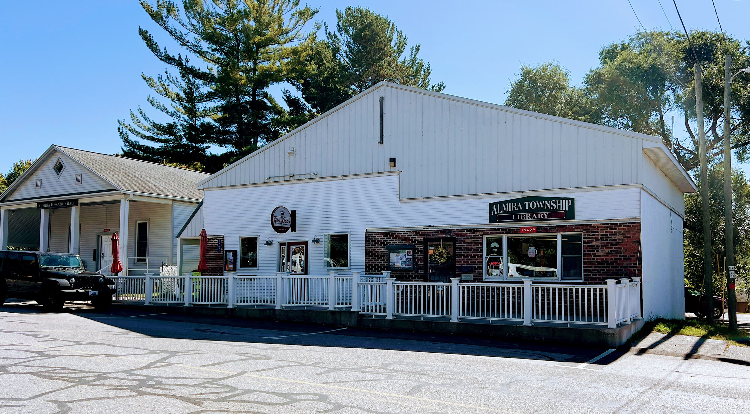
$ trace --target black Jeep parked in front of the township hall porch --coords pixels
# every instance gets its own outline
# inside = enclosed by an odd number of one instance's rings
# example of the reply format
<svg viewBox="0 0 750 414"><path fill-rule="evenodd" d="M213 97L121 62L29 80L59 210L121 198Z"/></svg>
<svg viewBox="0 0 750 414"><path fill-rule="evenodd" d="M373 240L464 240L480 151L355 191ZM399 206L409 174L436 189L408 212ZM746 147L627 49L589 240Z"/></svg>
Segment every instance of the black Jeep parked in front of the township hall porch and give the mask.
<svg viewBox="0 0 750 414"><path fill-rule="evenodd" d="M0 251L0 305L10 296L32 299L47 311L65 302L91 302L98 309L112 304L111 279L87 272L77 254Z"/></svg>

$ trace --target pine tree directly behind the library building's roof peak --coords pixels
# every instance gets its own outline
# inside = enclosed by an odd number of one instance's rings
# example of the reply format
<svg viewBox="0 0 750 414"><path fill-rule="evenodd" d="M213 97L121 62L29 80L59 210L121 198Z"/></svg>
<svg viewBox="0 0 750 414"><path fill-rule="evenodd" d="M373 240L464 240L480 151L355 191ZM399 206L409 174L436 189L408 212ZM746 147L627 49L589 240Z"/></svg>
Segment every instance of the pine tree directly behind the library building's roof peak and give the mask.
<svg viewBox="0 0 750 414"><path fill-rule="evenodd" d="M336 31L324 28L305 61L296 67L294 83L316 113L383 80L442 92L444 83L431 83L432 69L419 57L420 45L407 52L407 35L392 20L366 7L336 10Z"/></svg>

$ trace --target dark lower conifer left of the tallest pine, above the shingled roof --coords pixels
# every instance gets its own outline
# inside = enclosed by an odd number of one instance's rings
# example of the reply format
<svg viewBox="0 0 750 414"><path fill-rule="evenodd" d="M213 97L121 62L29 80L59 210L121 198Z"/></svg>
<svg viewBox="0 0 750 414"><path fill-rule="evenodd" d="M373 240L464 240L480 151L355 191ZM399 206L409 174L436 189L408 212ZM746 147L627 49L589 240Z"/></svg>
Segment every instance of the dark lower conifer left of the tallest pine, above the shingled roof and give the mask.
<svg viewBox="0 0 750 414"><path fill-rule="evenodd" d="M215 172L222 168L220 157L208 152L214 141L216 126L211 121L216 109L211 105L204 83L196 79L187 60L181 63L180 76L165 74L154 77L142 75L145 83L163 98L169 107L157 98L148 96L148 104L171 118L161 123L138 108L130 111L130 122L118 120L118 133L123 142L122 154L140 160L185 166L200 171ZM157 143L157 146L145 142Z"/></svg>

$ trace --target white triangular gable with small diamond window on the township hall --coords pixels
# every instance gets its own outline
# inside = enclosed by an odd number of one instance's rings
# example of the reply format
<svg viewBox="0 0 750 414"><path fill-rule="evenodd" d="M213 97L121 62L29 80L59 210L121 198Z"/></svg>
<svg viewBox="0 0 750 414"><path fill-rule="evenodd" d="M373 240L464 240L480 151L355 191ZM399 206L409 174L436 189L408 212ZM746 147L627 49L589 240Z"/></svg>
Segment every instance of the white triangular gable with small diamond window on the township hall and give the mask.
<svg viewBox="0 0 750 414"><path fill-rule="evenodd" d="M65 169L58 176L52 166L58 158L65 164ZM81 174L81 184L76 184L76 175ZM37 179L42 180L41 188L36 187ZM15 199L43 198L70 193L93 193L95 191L114 190L112 184L99 178L76 160L59 151L53 151L49 157L23 184L13 191L7 201Z"/></svg>

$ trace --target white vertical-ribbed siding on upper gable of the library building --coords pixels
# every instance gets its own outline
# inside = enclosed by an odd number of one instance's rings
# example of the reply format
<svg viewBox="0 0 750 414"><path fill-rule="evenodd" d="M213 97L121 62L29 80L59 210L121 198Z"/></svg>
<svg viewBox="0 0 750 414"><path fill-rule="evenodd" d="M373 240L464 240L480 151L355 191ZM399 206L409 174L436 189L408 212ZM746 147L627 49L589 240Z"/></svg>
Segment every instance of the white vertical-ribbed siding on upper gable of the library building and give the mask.
<svg viewBox="0 0 750 414"><path fill-rule="evenodd" d="M377 143L381 96L383 145ZM214 175L202 187L396 170L401 171L402 199L637 184L643 139L659 142L383 84ZM393 169L391 157L396 158ZM269 175L280 177L267 179Z"/></svg>

